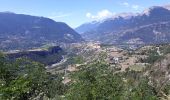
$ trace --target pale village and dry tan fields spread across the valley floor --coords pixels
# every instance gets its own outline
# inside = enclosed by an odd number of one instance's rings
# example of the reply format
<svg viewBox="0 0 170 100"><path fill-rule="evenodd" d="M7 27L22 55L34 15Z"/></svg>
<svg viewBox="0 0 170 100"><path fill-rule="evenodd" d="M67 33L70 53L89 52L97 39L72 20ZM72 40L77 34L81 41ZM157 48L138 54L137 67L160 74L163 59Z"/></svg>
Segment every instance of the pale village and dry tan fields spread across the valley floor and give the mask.
<svg viewBox="0 0 170 100"><path fill-rule="evenodd" d="M146 66L149 65L148 63L140 62L141 59L147 58L146 55L142 55L140 53L140 50L135 52L128 51L112 45L103 46L98 42L74 43L71 44L71 46L65 46L65 49L68 47L69 49L67 49L67 52L81 56L83 58L83 63L65 64L69 61L69 57L65 56L67 59L65 59L64 62L56 64L56 66L53 66L52 69L49 69L50 72L64 73L64 84L67 84L71 81L71 79L68 78L70 73L78 71L77 68L79 66L86 65L95 61L96 59L102 58L100 56L101 54L104 55L103 58L105 59L105 62L117 70L117 72L123 72L126 70L142 71ZM145 48L142 48L142 50L144 49ZM159 53L159 48L157 48L157 50Z"/></svg>

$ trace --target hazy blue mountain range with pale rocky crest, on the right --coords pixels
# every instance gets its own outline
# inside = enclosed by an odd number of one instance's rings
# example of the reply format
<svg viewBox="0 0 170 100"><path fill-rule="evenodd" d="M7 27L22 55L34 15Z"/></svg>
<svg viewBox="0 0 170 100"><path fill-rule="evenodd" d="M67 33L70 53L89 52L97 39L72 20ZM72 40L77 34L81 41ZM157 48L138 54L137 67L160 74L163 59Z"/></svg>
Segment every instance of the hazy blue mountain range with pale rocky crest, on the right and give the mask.
<svg viewBox="0 0 170 100"><path fill-rule="evenodd" d="M122 13L75 29L86 40L109 44L170 42L170 6L154 6L142 13Z"/></svg>

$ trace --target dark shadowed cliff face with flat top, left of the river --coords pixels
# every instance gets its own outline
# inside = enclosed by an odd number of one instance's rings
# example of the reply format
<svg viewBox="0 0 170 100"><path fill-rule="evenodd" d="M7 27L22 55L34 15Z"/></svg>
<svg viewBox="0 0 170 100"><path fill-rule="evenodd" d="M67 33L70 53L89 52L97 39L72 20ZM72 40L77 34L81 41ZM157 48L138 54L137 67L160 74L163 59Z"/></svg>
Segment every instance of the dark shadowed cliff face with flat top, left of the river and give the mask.
<svg viewBox="0 0 170 100"><path fill-rule="evenodd" d="M28 50L15 53L7 53L10 60L17 58L27 58L33 61L40 62L45 65L51 65L61 61L64 51L59 46L50 47L48 50Z"/></svg>

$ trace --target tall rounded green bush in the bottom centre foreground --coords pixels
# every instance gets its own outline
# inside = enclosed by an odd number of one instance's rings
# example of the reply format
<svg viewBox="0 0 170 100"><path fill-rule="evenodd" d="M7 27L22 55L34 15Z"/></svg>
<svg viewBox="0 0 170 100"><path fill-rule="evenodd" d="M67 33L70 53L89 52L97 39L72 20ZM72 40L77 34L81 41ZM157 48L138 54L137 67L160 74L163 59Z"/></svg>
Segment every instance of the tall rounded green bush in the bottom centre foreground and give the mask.
<svg viewBox="0 0 170 100"><path fill-rule="evenodd" d="M111 77L112 75L107 74L107 72L110 71L105 63L97 62L89 66L81 66L80 71L72 75L76 82L73 82L68 90L68 100L118 98L117 95L122 87L121 78Z"/></svg>

